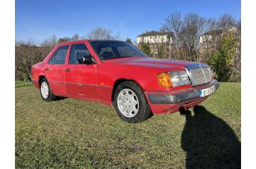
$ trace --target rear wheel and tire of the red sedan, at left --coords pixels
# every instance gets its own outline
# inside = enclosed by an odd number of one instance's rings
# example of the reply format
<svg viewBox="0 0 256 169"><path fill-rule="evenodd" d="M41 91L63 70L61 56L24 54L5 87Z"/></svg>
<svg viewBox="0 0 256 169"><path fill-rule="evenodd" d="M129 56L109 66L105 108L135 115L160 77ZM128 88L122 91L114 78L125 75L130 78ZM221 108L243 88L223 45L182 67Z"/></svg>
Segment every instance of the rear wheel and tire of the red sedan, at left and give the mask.
<svg viewBox="0 0 256 169"><path fill-rule="evenodd" d="M50 102L56 99L56 96L53 93L53 90L50 89L50 85L48 83L48 80L46 80L46 78L43 78L40 82L40 94L43 101L46 101L46 102Z"/></svg>

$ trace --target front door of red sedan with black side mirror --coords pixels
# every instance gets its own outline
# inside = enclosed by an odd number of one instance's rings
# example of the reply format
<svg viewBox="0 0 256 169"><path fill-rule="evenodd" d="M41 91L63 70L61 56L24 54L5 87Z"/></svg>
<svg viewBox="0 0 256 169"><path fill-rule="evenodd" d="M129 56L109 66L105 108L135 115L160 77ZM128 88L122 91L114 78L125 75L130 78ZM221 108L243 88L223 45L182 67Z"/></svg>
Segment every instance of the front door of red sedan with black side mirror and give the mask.
<svg viewBox="0 0 256 169"><path fill-rule="evenodd" d="M70 97L97 100L97 62L85 43L70 47L65 65L65 91Z"/></svg>

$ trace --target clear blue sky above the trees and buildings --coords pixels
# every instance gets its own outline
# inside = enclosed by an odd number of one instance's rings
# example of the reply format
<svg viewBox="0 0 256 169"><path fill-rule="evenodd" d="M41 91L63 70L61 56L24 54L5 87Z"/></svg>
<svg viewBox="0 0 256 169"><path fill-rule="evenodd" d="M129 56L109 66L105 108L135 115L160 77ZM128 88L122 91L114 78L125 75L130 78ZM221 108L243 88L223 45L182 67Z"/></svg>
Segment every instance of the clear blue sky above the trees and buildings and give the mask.
<svg viewBox="0 0 256 169"><path fill-rule="evenodd" d="M34 38L38 42L52 35L86 36L97 26L135 40L146 30L158 30L164 18L175 11L198 13L207 18L230 13L236 19L241 18L238 0L16 0L15 8L16 40Z"/></svg>

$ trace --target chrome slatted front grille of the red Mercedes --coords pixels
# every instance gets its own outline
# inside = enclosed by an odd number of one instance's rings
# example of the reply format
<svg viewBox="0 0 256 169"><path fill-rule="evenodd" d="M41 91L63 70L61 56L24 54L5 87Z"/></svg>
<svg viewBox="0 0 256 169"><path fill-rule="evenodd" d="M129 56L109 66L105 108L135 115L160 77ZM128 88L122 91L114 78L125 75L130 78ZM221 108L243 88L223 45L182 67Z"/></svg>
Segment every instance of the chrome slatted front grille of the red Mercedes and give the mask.
<svg viewBox="0 0 256 169"><path fill-rule="evenodd" d="M211 81L210 69L208 67L199 67L189 70L193 86L199 86Z"/></svg>

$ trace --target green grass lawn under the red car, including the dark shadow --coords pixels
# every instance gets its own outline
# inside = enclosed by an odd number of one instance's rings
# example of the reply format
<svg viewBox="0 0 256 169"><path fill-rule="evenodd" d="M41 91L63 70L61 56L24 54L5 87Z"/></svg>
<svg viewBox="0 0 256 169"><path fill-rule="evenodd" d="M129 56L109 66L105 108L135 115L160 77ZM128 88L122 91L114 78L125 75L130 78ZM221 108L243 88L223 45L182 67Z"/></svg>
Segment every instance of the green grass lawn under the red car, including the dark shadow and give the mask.
<svg viewBox="0 0 256 169"><path fill-rule="evenodd" d="M240 168L240 83L186 114L139 124L77 99L43 102L16 82L16 168Z"/></svg>

